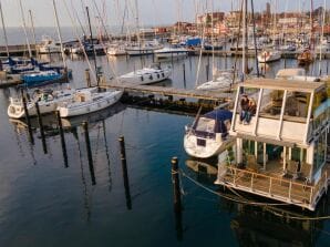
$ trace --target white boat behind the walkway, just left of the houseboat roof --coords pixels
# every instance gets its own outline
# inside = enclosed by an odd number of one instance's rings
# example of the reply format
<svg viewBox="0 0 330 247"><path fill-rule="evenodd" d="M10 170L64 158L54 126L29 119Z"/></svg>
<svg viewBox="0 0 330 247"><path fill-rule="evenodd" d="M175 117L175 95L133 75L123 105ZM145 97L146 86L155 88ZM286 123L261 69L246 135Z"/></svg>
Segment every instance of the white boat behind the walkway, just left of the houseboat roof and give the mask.
<svg viewBox="0 0 330 247"><path fill-rule="evenodd" d="M233 70L218 71L214 80L205 82L197 86L197 90L227 90L233 84Z"/></svg>

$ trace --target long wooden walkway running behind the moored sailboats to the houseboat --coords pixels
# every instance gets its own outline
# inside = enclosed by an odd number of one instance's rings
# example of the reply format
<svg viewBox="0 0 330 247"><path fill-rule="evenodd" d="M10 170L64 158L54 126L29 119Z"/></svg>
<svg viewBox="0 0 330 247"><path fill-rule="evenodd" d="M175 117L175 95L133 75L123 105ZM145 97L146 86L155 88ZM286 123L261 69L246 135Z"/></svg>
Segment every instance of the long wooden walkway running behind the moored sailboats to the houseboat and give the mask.
<svg viewBox="0 0 330 247"><path fill-rule="evenodd" d="M186 90L186 89L164 88L164 86L154 86L154 85L141 85L141 84L133 84L133 83L106 83L101 85L101 88L124 90L125 92L138 92L144 94L212 100L212 101L230 101L233 100L233 96L234 96L233 93L224 93L219 91Z"/></svg>

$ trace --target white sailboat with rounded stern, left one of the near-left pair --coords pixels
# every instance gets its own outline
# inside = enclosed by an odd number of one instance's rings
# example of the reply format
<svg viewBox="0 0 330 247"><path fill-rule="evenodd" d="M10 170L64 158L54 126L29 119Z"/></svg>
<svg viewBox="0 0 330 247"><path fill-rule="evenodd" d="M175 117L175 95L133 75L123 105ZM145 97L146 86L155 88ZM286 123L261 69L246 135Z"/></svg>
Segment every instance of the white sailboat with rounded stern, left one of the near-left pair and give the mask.
<svg viewBox="0 0 330 247"><path fill-rule="evenodd" d="M58 105L64 101L73 97L74 90L51 91L37 90L32 94L31 101L27 103L28 112L30 116L37 115L35 102L39 104L40 113L51 113L56 110ZM23 102L21 99L10 97L10 104L8 106L8 116L11 119L21 119L25 116Z"/></svg>

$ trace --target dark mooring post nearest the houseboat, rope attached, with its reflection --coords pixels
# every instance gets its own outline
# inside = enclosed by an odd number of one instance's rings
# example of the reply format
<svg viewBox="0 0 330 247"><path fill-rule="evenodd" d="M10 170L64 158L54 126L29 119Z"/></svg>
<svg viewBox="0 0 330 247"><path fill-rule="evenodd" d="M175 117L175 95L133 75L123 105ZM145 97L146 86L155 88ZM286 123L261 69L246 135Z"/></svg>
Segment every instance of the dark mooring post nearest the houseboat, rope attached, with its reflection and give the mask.
<svg viewBox="0 0 330 247"><path fill-rule="evenodd" d="M181 187L179 187L179 176L178 176L178 159L173 157L172 164L172 185L173 185L173 206L175 214L175 228L176 237L178 240L183 239L183 225L182 225L182 202L181 202Z"/></svg>

